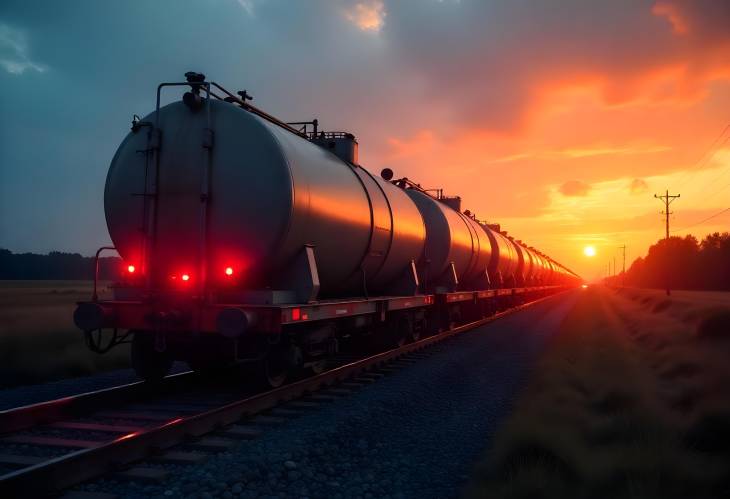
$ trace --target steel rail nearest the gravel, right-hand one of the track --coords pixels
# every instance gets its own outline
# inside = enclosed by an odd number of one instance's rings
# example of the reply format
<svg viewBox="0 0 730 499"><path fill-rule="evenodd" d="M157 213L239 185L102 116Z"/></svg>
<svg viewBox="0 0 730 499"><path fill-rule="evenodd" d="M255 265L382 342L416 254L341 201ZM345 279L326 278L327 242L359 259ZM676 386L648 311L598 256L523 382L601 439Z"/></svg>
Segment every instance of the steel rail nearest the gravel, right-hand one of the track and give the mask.
<svg viewBox="0 0 730 499"><path fill-rule="evenodd" d="M323 387L343 381L403 355L422 350L454 335L488 324L526 307L554 298L560 291L528 303L517 305L490 317L454 327L418 342L388 350L362 360L345 364L317 376L254 395L224 406L180 417L164 424L124 435L98 447L82 449L40 464L17 470L0 479L0 497L14 497L22 491L26 497L52 494L85 480L117 471L125 465L144 459L164 449L184 443L239 422L273 407L311 394Z"/></svg>

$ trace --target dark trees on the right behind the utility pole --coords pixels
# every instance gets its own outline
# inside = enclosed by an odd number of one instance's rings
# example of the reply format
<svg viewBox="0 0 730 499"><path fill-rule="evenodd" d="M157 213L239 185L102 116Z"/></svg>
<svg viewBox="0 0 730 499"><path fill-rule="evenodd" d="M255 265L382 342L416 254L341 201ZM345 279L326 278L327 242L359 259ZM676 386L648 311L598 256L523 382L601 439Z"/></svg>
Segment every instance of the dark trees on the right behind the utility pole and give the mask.
<svg viewBox="0 0 730 499"><path fill-rule="evenodd" d="M634 260L626 275L608 279L642 288L730 290L730 233L670 237L653 244Z"/></svg>

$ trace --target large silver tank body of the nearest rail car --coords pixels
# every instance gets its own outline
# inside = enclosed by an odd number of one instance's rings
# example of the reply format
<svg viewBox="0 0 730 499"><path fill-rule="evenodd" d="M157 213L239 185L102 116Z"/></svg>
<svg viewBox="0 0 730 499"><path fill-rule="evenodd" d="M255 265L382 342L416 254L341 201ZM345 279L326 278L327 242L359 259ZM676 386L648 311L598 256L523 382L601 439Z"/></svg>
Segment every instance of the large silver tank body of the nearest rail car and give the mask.
<svg viewBox="0 0 730 499"><path fill-rule="evenodd" d="M144 269L154 285L182 273L191 284L206 274L214 285L231 266L241 286L270 286L312 245L321 292L357 294L363 281L370 291L386 289L421 256L426 230L401 189L238 106L205 105L214 134L209 153L202 147L205 108L192 112L176 102L160 109L159 179L156 186L147 180L148 192L157 191L155 240ZM143 121L154 122L154 113ZM126 261L138 264L146 130L120 145L104 195L111 238Z"/></svg>

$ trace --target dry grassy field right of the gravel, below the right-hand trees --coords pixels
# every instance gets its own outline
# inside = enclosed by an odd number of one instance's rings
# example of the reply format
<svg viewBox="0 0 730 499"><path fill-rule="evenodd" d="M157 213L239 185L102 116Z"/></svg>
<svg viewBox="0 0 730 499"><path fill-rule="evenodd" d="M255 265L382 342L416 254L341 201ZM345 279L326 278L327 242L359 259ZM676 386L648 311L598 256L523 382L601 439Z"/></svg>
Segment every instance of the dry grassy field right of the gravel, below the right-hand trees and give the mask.
<svg viewBox="0 0 730 499"><path fill-rule="evenodd" d="M730 497L730 294L589 288L469 498Z"/></svg>

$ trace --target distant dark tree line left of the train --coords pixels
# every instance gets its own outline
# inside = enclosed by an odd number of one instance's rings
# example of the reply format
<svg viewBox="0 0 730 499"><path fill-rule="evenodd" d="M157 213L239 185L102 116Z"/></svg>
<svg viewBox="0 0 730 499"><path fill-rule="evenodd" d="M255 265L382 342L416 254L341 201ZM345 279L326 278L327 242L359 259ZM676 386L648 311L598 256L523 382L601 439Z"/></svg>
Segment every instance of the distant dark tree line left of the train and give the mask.
<svg viewBox="0 0 730 499"><path fill-rule="evenodd" d="M119 280L122 259L115 256L99 259L99 278ZM0 280L91 280L94 257L78 253L51 251L47 255L13 253L0 248Z"/></svg>

